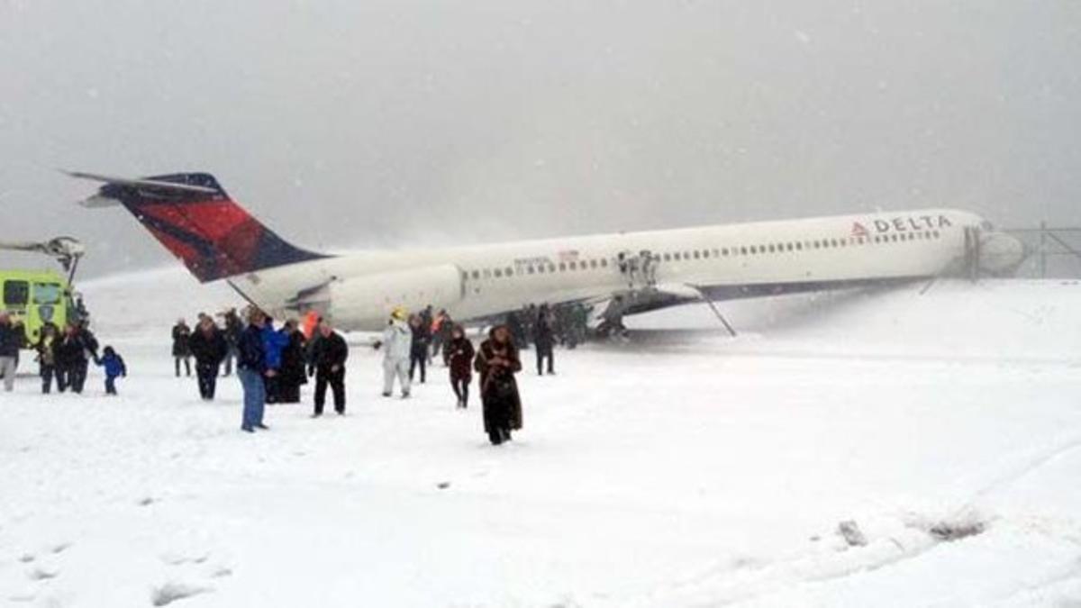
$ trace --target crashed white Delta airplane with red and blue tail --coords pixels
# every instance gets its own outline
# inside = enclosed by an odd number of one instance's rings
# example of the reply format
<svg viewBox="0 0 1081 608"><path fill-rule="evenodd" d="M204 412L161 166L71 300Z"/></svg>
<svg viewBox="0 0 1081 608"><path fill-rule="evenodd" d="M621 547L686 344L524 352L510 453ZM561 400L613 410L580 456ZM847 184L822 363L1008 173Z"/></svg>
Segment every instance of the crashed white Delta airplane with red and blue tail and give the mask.
<svg viewBox="0 0 1081 608"><path fill-rule="evenodd" d="M399 306L468 321L530 303L608 302L622 318L692 302L1009 275L1027 256L1018 239L955 209L337 255L286 242L209 173L68 174L104 183L82 204L122 206L199 281L225 280L276 316L316 310L343 330L378 331Z"/></svg>

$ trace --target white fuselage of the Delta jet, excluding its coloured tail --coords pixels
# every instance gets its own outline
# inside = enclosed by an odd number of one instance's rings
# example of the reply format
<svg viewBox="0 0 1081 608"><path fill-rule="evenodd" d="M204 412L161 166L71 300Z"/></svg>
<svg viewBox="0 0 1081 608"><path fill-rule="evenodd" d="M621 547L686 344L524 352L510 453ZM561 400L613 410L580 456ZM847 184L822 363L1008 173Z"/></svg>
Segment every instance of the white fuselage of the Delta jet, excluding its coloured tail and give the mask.
<svg viewBox="0 0 1081 608"><path fill-rule="evenodd" d="M988 227L969 212L929 209L364 252L229 281L271 310L317 308L343 329L378 330L396 306L417 309L432 304L455 319L470 319L529 303L604 300L641 289L646 287L644 273L636 279L626 266L631 259L638 263L641 259L633 256L642 252L655 260L650 285L656 290L690 287L718 299L743 288L826 289L935 277L960 269L979 251L973 235Z"/></svg>

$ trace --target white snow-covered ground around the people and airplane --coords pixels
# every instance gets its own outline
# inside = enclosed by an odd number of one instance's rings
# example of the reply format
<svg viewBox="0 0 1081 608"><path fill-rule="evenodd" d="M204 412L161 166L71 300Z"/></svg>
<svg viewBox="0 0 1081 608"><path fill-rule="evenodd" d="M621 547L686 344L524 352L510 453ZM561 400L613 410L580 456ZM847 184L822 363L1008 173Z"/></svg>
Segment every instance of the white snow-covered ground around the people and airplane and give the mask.
<svg viewBox="0 0 1081 608"><path fill-rule="evenodd" d="M442 368L379 398L365 336L347 417L243 434L236 380L200 402L166 340L226 289L85 283L131 376L0 394L0 603L1076 606L1081 285L922 287L725 304L735 340L635 319L523 373L494 448Z"/></svg>

